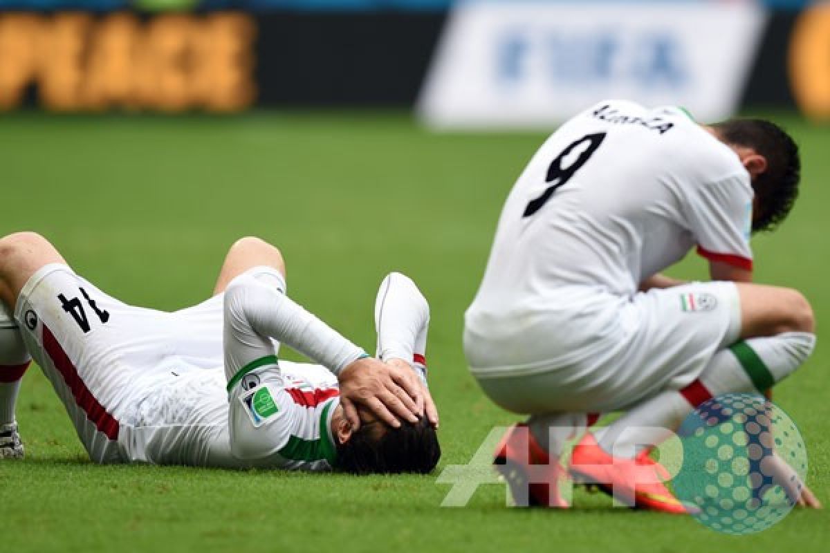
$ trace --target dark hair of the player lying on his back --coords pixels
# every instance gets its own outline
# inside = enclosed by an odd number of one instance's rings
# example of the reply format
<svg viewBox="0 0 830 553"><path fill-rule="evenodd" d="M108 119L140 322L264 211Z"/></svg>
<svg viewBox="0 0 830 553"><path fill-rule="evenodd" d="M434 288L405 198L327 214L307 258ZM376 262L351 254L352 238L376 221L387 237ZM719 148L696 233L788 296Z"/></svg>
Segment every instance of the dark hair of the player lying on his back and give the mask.
<svg viewBox="0 0 830 553"><path fill-rule="evenodd" d="M385 431L378 437L378 430ZM425 418L404 421L397 429L381 422L361 424L336 449L334 468L352 474L427 474L441 458L437 433Z"/></svg>

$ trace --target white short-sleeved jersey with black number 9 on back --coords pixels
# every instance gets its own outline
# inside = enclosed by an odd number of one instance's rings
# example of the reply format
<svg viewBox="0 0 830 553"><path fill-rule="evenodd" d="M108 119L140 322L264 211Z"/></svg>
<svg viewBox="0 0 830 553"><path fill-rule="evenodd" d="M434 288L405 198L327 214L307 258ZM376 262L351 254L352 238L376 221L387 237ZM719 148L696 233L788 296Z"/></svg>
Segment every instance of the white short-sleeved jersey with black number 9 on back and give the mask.
<svg viewBox="0 0 830 553"><path fill-rule="evenodd" d="M557 291L572 286L631 297L693 247L751 269L752 199L738 156L683 109L601 102L515 183L466 326L561 309Z"/></svg>

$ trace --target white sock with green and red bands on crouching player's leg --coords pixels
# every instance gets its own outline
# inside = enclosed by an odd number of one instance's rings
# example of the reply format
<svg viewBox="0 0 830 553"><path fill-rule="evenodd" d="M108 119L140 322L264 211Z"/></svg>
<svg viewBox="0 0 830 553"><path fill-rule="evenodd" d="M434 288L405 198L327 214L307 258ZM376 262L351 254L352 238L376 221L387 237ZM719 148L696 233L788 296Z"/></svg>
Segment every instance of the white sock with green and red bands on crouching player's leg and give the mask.
<svg viewBox="0 0 830 553"><path fill-rule="evenodd" d="M706 400L730 392L764 392L784 380L807 360L815 343L815 335L808 332L736 342L712 357L700 379L645 400L615 420L599 444L609 454L633 457L671 436Z"/></svg>

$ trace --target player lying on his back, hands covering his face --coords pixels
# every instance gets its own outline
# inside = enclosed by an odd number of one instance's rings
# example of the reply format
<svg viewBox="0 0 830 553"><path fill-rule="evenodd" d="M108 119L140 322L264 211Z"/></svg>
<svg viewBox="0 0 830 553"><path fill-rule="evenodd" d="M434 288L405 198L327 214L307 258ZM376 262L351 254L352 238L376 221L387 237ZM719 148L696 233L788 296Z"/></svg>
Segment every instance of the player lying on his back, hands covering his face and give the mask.
<svg viewBox="0 0 830 553"><path fill-rule="evenodd" d="M215 293L175 313L129 306L41 236L0 239L0 298L18 325L0 330L0 456L23 453L14 402L31 354L99 463L435 467L429 308L412 280L393 273L381 284L379 360L286 296L280 252L262 240L233 245ZM280 342L322 366L277 362Z"/></svg>

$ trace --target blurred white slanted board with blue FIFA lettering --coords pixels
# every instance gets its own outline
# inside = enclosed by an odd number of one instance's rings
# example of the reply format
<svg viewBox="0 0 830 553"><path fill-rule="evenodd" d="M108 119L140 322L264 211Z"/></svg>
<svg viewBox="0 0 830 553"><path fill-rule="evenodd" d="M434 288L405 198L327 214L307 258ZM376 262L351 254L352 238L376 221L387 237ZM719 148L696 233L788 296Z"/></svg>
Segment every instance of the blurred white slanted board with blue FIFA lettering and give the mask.
<svg viewBox="0 0 830 553"><path fill-rule="evenodd" d="M461 2L418 109L437 128L549 128L604 98L722 119L767 20L749 2Z"/></svg>

